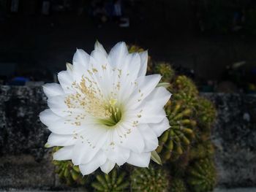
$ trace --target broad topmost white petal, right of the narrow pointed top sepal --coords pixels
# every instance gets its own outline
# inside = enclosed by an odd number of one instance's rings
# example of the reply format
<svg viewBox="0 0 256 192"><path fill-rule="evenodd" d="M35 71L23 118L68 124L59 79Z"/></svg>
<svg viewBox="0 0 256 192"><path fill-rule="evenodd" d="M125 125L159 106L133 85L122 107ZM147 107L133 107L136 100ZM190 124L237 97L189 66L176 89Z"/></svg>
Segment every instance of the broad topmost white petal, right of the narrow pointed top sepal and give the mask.
<svg viewBox="0 0 256 192"><path fill-rule="evenodd" d="M124 64L125 57L128 55L125 42L118 42L108 55L108 62L113 68L120 68Z"/></svg>

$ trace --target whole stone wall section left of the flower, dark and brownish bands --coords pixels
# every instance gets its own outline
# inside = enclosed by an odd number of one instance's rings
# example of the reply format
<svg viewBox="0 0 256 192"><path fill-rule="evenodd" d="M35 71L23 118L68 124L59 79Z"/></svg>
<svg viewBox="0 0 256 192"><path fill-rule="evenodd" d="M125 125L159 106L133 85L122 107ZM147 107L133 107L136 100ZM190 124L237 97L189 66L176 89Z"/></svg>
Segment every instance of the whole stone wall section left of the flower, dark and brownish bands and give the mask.
<svg viewBox="0 0 256 192"><path fill-rule="evenodd" d="M0 87L0 188L55 186L49 131L38 118L46 107L40 87Z"/></svg>

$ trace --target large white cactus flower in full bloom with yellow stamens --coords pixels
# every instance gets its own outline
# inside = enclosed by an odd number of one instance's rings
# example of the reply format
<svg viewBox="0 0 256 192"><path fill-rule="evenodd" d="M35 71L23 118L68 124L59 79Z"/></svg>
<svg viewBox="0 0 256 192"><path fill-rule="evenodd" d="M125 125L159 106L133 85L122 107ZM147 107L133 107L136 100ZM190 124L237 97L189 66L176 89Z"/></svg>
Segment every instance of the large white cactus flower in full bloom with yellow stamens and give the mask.
<svg viewBox="0 0 256 192"><path fill-rule="evenodd" d="M55 160L72 160L82 174L118 164L147 167L151 151L169 128L163 107L170 93L146 76L148 53L132 53L119 42L109 55L99 42L88 55L77 50L57 83L43 86L50 109L39 118L52 132L48 147L64 146Z"/></svg>

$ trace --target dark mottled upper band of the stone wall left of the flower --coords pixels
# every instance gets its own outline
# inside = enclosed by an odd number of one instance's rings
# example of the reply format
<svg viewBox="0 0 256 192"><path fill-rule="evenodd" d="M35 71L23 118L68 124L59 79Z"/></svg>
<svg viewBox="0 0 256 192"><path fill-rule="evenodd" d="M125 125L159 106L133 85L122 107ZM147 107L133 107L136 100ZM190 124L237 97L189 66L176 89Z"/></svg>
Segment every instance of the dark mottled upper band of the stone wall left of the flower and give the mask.
<svg viewBox="0 0 256 192"><path fill-rule="evenodd" d="M0 154L45 154L49 131L40 123L39 112L47 107L40 87L0 87Z"/></svg>

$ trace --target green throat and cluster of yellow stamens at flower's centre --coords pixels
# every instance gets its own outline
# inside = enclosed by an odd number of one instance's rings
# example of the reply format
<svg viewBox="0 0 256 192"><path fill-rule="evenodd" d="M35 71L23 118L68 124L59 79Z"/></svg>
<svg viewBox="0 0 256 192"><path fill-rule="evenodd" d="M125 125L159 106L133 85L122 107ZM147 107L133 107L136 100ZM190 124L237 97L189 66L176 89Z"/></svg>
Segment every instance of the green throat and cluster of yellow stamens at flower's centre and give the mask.
<svg viewBox="0 0 256 192"><path fill-rule="evenodd" d="M106 101L97 82L84 76L79 83L73 82L71 87L76 93L70 94L65 99L65 104L69 108L67 112L72 114L73 109L83 109L83 112L75 116L73 124L80 126L81 120L86 119L87 116L110 127L116 126L121 120L121 107L115 99L115 93L111 92L110 99Z"/></svg>

